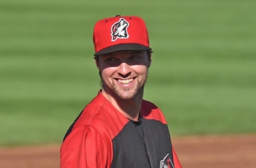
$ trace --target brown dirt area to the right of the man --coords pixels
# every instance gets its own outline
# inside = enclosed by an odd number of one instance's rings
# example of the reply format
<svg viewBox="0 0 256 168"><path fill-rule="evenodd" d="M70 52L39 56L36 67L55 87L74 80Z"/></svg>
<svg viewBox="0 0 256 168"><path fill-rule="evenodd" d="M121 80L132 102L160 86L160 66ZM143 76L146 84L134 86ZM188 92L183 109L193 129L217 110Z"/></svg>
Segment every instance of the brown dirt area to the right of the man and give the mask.
<svg viewBox="0 0 256 168"><path fill-rule="evenodd" d="M182 167L256 167L256 135L173 138Z"/></svg>

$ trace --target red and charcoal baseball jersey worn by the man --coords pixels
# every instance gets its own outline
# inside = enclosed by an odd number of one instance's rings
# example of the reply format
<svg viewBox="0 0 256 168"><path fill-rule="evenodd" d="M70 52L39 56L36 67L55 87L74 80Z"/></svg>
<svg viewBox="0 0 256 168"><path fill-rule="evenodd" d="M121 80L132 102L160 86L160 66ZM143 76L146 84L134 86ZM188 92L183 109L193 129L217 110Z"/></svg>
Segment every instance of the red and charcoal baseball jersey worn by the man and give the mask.
<svg viewBox="0 0 256 168"><path fill-rule="evenodd" d="M67 131L60 168L180 168L161 110L142 100L140 116L127 119L99 92Z"/></svg>

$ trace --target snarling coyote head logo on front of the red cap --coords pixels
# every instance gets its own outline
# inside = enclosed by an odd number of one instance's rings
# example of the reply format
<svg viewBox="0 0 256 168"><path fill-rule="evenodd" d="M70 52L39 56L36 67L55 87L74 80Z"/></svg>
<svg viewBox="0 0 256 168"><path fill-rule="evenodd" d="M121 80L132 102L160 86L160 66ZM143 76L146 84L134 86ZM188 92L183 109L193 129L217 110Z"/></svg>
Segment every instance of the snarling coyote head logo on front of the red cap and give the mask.
<svg viewBox="0 0 256 168"><path fill-rule="evenodd" d="M121 18L118 22L114 23L111 27L111 41L115 41L118 38L129 38L129 35L127 33L127 27L129 27L129 22L127 22L123 18Z"/></svg>

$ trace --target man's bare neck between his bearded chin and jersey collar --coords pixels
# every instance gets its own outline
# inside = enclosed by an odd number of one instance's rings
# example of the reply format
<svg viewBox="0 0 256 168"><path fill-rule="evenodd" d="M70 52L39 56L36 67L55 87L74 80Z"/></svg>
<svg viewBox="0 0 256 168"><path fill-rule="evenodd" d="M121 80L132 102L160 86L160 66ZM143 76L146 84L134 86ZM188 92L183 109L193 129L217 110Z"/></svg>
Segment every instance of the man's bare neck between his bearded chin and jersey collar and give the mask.
<svg viewBox="0 0 256 168"><path fill-rule="evenodd" d="M102 89L102 95L105 96L108 101L125 117L138 121L143 98L143 88L139 91L137 96L129 100L121 99L115 94L109 94L104 89Z"/></svg>

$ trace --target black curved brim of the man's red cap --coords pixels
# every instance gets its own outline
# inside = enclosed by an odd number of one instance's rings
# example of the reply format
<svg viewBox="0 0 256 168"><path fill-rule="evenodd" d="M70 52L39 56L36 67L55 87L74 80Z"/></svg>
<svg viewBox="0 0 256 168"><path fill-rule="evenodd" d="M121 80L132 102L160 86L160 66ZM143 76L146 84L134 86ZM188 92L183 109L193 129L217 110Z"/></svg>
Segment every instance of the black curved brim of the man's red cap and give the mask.
<svg viewBox="0 0 256 168"><path fill-rule="evenodd" d="M121 50L149 50L150 51L151 48L140 45L140 44L118 44L115 46L110 46L110 47L101 49L101 51L95 53L94 56L121 51Z"/></svg>

